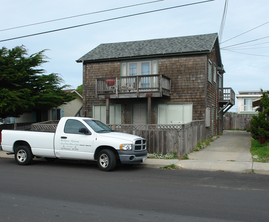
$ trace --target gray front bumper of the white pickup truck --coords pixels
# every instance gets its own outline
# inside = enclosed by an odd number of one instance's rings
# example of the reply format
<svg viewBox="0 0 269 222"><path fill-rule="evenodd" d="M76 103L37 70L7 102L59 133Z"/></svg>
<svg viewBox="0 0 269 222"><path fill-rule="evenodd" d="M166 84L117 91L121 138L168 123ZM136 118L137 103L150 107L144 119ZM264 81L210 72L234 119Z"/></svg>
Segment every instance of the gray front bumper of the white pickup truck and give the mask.
<svg viewBox="0 0 269 222"><path fill-rule="evenodd" d="M122 164L135 164L143 162L147 158L148 151L117 150Z"/></svg>

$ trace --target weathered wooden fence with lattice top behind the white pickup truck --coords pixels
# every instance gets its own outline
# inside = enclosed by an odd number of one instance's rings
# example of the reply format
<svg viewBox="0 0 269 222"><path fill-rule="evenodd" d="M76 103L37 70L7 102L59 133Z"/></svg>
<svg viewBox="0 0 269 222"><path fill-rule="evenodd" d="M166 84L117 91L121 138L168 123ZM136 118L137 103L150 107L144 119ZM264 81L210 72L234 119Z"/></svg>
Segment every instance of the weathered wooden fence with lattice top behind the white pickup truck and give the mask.
<svg viewBox="0 0 269 222"><path fill-rule="evenodd" d="M55 131L56 123L51 121L33 124L32 130ZM109 125L121 133L143 137L149 153L176 152L185 156L205 138L204 120L191 121L182 125Z"/></svg>

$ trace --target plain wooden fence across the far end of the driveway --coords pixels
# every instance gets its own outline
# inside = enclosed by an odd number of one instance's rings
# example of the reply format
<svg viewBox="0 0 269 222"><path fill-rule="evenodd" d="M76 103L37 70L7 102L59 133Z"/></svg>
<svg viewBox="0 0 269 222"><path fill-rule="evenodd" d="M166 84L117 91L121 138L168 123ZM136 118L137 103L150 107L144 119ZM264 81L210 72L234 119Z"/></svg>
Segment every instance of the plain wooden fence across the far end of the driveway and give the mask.
<svg viewBox="0 0 269 222"><path fill-rule="evenodd" d="M246 128L250 128L250 120L253 115L258 116L258 114L225 113L223 117L224 130L246 130Z"/></svg>

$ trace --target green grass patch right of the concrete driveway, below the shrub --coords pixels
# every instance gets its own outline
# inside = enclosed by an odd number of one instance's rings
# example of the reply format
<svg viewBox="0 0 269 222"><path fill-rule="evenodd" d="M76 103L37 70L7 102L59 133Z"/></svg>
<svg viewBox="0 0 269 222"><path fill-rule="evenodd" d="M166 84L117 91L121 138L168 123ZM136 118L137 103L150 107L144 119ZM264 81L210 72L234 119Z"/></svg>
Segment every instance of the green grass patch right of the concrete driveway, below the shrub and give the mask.
<svg viewBox="0 0 269 222"><path fill-rule="evenodd" d="M269 148L267 143L260 144L257 140L251 140L250 152L253 162L269 162Z"/></svg>

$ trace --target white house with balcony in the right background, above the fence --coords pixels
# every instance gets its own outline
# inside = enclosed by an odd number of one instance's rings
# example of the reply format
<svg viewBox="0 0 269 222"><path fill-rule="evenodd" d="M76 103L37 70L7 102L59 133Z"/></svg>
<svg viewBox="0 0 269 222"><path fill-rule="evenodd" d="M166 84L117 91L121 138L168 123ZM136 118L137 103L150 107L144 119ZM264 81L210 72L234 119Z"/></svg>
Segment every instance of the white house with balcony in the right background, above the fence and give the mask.
<svg viewBox="0 0 269 222"><path fill-rule="evenodd" d="M252 100L258 99L262 96L260 90L257 91L238 91L239 95L235 95L237 98L237 113L238 114L256 114L255 110L258 107L252 107Z"/></svg>

